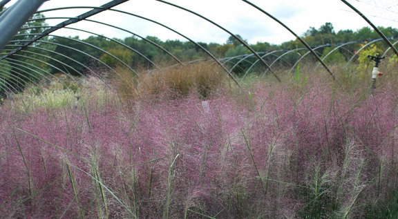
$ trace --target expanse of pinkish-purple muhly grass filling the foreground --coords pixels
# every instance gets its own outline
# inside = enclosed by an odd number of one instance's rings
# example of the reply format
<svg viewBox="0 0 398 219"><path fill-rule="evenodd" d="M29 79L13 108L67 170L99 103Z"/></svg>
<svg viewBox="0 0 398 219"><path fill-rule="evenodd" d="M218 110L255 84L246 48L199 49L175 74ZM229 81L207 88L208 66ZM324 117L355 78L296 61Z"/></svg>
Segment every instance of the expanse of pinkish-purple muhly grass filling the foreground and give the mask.
<svg viewBox="0 0 398 219"><path fill-rule="evenodd" d="M372 97L314 79L205 103L6 104L1 217L394 218L397 96L386 87Z"/></svg>

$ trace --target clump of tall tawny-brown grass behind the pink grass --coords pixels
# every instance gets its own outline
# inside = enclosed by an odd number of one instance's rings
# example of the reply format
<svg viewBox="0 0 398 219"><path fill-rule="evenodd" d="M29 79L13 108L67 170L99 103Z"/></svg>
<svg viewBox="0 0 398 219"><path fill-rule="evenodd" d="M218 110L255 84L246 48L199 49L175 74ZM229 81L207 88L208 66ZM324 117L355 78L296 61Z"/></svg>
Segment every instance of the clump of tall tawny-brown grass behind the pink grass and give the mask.
<svg viewBox="0 0 398 219"><path fill-rule="evenodd" d="M209 62L140 72L140 77L135 77L129 70L117 69L113 82L121 97L164 97L166 94L177 98L197 93L207 98L228 81L227 73Z"/></svg>

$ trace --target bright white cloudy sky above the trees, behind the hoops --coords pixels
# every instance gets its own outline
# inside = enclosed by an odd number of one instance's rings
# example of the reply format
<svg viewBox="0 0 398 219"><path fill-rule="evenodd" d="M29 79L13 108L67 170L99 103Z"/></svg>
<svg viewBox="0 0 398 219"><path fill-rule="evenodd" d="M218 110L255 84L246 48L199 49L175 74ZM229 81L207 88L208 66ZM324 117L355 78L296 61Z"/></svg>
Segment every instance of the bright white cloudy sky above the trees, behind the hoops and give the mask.
<svg viewBox="0 0 398 219"><path fill-rule="evenodd" d="M8 6L15 1L11 1ZM40 9L101 6L109 1L111 0L50 0L46 1ZM294 39L294 36L276 21L241 0L168 1L215 21L234 34L241 35L250 44L255 44L257 41L281 44L284 41ZM325 22L331 22L336 32L345 29L357 30L363 26L369 26L366 21L340 0L251 0L251 2L285 23L298 35L303 35L303 32L310 26L318 29ZM349 2L363 12L376 26L398 28L397 0L349 0ZM115 7L115 9L153 19L195 41L224 44L229 37L227 32L213 26L208 21L155 0L130 0ZM44 15L46 17L75 17L88 10L57 10L55 12L46 12ZM110 23L113 26L120 26L142 37L149 35L158 37L163 41L167 39L186 41L186 39L166 28L117 12L102 12L90 19ZM46 22L50 25L55 25L61 21L64 21L64 19L51 19ZM82 21L70 27L82 28L106 37L124 39L124 37L131 36L129 32L115 30L114 28L108 28L88 21ZM88 37L87 34L75 30L59 30L56 34L64 36L79 35L82 38Z"/></svg>

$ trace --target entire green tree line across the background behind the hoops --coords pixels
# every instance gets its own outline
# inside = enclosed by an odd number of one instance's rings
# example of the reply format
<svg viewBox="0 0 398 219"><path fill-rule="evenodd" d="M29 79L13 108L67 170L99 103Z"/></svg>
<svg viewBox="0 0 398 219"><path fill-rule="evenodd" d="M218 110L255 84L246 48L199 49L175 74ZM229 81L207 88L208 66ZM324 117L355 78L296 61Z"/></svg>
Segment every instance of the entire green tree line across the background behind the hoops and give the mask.
<svg viewBox="0 0 398 219"><path fill-rule="evenodd" d="M42 16L35 15L35 17ZM23 30L10 42L8 48L15 48L32 38L32 35L39 34L45 30L43 26L46 26L44 20L26 23ZM398 36L397 28L379 28L386 37ZM237 36L240 37L240 35ZM379 38L379 35L375 30L368 27L335 32L332 23L325 23L319 28L310 27L303 33L302 37L310 46L329 44L329 48L319 50L319 53L324 55L325 51L330 51L335 45L348 41L370 41ZM240 39L243 39L243 37L240 37ZM257 52L304 48L298 39L286 41L279 45L258 41L256 44L249 44L249 46ZM386 47L382 42L378 46L379 48ZM347 57L360 47L359 44L348 45L338 50L336 54L339 57L333 60L344 59L342 57ZM219 59L250 53L234 37L226 39L225 44L207 44L204 42L193 44L191 41L180 41L178 39L162 41L154 36L141 39L134 35L124 39L110 39L102 35L93 35L86 39L79 39L78 36L45 37L24 49L19 53L20 55L13 55L9 59L1 60L0 75L2 75L3 80L0 83L3 86L3 82L19 86L23 84L20 81L26 81L27 78L36 80L41 78L41 75L59 72L78 75L88 72L89 68L101 66L112 68L119 65L120 61L123 61L126 66L131 66L131 68L153 68L153 64L174 64L176 59L180 61L209 59L209 55L202 48ZM4 50L0 55L6 53L8 51ZM275 56L269 56L267 59L266 61L272 61ZM295 59L297 59L296 56L287 55L281 61L294 63ZM238 60L231 60L229 64L236 64L237 62ZM249 64L250 61L239 63L238 68L234 69L234 73L238 75L243 73Z"/></svg>

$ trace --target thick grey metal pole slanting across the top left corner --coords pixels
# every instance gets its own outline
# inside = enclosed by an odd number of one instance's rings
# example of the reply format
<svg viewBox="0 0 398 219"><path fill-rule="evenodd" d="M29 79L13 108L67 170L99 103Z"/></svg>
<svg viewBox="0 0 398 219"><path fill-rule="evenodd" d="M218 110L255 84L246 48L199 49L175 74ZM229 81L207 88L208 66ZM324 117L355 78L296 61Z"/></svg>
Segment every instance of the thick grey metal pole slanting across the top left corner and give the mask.
<svg viewBox="0 0 398 219"><path fill-rule="evenodd" d="M17 34L29 17L46 0L19 0L18 5L3 16L0 21L0 50L8 44L8 41Z"/></svg>

